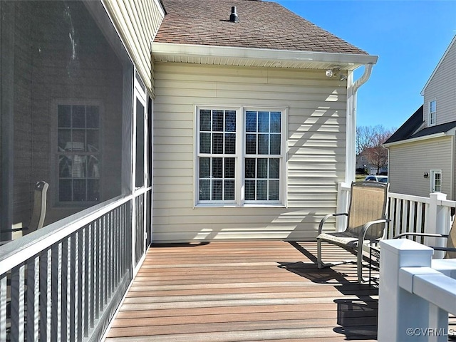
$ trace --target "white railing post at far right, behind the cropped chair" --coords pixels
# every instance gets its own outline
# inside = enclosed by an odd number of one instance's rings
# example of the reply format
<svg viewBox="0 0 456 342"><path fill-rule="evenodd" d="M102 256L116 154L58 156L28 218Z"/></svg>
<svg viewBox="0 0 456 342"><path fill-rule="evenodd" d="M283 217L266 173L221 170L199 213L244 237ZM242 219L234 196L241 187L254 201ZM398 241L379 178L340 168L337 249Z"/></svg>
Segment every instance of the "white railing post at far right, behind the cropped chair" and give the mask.
<svg viewBox="0 0 456 342"><path fill-rule="evenodd" d="M447 199L447 195L442 194L442 192L433 192L429 194L429 198L430 204L427 215L426 232L434 234L448 234L449 227L447 226L450 222L448 208L443 207L440 204L441 201L445 201ZM440 239L438 237L425 238L425 244L428 246L445 247L446 243L446 239ZM434 258L442 259L444 255L445 252L435 251Z"/></svg>

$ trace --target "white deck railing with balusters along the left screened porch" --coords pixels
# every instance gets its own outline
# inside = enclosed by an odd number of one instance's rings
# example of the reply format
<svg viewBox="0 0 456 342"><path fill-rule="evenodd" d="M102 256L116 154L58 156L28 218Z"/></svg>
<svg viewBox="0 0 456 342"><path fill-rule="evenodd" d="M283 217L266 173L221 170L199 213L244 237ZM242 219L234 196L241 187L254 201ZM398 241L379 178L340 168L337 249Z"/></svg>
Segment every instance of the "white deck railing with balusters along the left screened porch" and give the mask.
<svg viewBox="0 0 456 342"><path fill-rule="evenodd" d="M144 198L113 199L2 246L0 341L100 341L145 250Z"/></svg>

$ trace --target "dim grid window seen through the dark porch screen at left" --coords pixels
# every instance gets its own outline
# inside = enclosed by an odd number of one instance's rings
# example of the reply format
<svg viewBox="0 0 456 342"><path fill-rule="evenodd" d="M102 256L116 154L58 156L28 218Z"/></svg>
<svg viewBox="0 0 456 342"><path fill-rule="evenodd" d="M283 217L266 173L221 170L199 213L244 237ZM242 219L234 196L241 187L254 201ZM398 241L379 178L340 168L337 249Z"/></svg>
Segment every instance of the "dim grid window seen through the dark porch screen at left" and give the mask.
<svg viewBox="0 0 456 342"><path fill-rule="evenodd" d="M100 108L57 105L58 202L100 200Z"/></svg>

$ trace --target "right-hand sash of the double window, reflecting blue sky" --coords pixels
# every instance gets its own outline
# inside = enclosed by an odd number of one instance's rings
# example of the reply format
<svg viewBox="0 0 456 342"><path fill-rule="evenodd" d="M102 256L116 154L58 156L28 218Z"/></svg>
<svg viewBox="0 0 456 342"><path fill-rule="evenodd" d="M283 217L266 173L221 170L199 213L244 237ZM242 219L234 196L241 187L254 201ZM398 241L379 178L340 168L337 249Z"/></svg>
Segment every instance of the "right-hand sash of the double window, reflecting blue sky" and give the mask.
<svg viewBox="0 0 456 342"><path fill-rule="evenodd" d="M245 200L280 201L281 112L245 113Z"/></svg>

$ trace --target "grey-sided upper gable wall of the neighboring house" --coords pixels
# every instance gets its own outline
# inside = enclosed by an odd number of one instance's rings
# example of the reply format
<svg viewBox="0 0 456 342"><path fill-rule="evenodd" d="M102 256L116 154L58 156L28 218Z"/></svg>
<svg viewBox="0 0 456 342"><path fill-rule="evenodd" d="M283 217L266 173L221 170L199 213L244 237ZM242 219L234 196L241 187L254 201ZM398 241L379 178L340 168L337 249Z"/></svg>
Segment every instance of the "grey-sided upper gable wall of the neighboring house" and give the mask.
<svg viewBox="0 0 456 342"><path fill-rule="evenodd" d="M437 125L456 120L456 43L449 47L424 89L423 115L427 125L429 102L432 100L436 100L437 104Z"/></svg>

